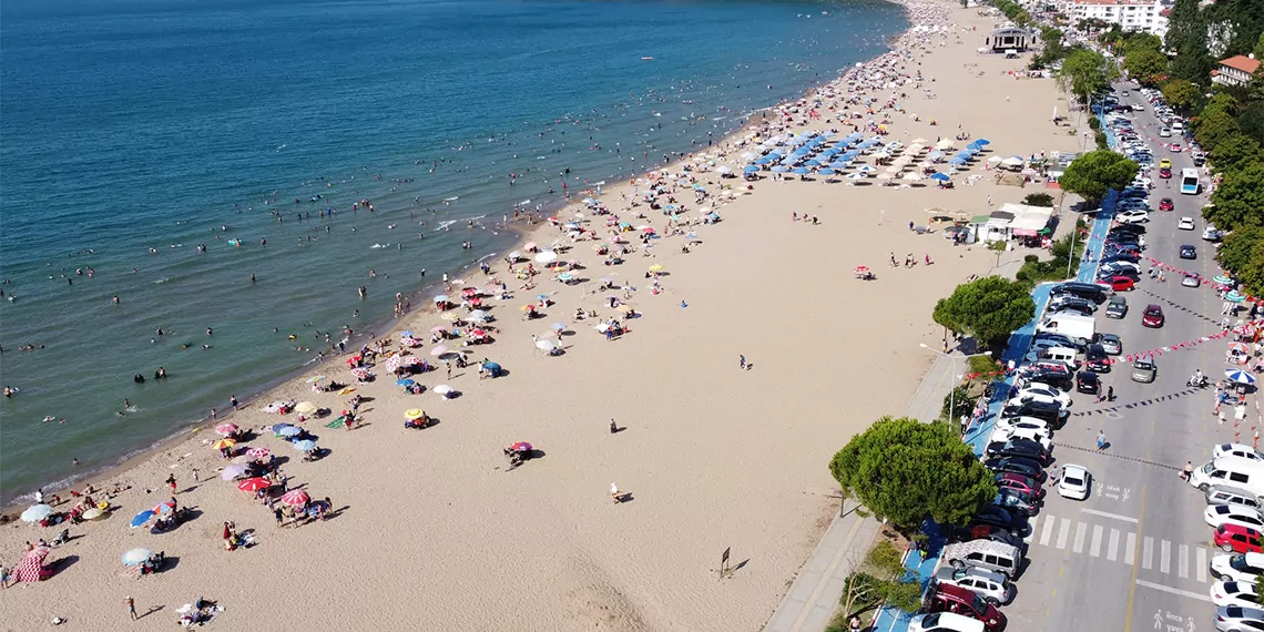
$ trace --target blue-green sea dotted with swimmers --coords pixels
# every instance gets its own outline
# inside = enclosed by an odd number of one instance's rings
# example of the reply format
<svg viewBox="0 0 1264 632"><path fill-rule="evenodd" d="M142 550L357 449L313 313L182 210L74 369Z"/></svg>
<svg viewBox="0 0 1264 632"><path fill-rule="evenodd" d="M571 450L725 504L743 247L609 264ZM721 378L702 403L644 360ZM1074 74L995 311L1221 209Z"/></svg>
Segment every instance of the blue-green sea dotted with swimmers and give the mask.
<svg viewBox="0 0 1264 632"><path fill-rule="evenodd" d="M514 211L906 27L878 0L6 0L0 503L315 373L512 248Z"/></svg>

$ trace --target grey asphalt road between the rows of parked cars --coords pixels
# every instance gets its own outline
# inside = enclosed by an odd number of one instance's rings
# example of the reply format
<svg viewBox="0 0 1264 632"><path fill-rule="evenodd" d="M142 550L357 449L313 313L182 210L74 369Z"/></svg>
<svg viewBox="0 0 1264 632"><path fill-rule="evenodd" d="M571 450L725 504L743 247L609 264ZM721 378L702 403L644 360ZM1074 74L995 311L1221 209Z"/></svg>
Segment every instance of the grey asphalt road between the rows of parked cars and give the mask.
<svg viewBox="0 0 1264 632"><path fill-rule="evenodd" d="M1116 87L1116 94L1120 94ZM1215 250L1203 241L1200 209L1206 196L1179 193L1179 173L1192 167L1188 153L1172 153L1159 142L1159 124L1149 104L1136 91L1121 102L1145 105L1134 112L1134 125L1152 139L1155 163L1172 159L1170 188L1153 171L1145 255L1205 278L1218 274ZM1162 197L1176 202L1173 212L1158 211ZM1177 230L1177 219L1193 217L1197 230ZM1198 259L1179 259L1179 246L1193 244ZM1144 263L1144 259L1143 259ZM1143 265L1143 270L1148 265ZM1210 287L1188 288L1168 274L1165 282L1143 281L1125 292L1129 313L1124 320L1106 319L1098 311L1098 331L1119 334L1125 354L1193 340L1218 330L1221 301ZM1141 326L1146 305L1163 307L1162 329ZM1076 463L1093 474L1092 494L1077 502L1058 497L1049 487L1043 511L1033 518L1028 537L1029 566L1018 580L1018 598L1002 608L1009 629L1054 632L1213 629L1215 608L1208 597L1213 581L1208 574L1211 527L1203 522L1202 494L1178 479L1187 460L1194 466L1211 458L1216 442L1234 440L1234 426L1217 423L1212 415L1213 391L1191 389L1186 380L1194 369L1212 379L1224 375L1222 340L1157 358L1158 379L1133 382L1130 365L1119 364L1102 375L1103 386L1115 387L1115 401L1095 403L1093 396L1076 393L1072 417L1055 436L1054 468ZM1105 431L1107 447L1098 451L1096 439ZM1250 444L1249 427L1241 442ZM1053 470L1050 470L1053 473Z"/></svg>

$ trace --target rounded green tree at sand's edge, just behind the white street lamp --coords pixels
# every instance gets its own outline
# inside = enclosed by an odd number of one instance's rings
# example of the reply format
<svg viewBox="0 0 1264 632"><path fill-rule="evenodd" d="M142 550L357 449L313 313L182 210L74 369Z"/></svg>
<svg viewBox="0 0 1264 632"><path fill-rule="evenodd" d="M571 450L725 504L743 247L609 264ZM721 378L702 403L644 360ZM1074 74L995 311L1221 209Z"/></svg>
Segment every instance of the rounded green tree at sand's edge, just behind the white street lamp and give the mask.
<svg viewBox="0 0 1264 632"><path fill-rule="evenodd" d="M1023 283L985 277L957 286L952 296L935 303L932 316L958 334L1000 346L1035 316L1035 302Z"/></svg>

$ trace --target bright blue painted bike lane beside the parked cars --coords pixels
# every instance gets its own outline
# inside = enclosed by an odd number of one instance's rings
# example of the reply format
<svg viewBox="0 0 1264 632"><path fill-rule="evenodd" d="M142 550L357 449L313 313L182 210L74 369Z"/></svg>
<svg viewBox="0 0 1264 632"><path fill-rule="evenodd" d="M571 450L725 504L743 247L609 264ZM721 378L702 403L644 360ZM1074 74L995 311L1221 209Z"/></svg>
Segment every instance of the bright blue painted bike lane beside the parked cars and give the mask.
<svg viewBox="0 0 1264 632"><path fill-rule="evenodd" d="M1097 114L1100 115L1100 111ZM1103 130L1106 131L1107 143L1114 148L1114 134L1109 128L1103 126ZM1076 281L1085 283L1096 281L1097 262L1101 259L1102 249L1106 245L1106 234L1110 231L1117 201L1119 193L1116 191L1107 192L1106 198L1102 200L1101 210L1093 217L1092 226L1088 230L1088 241L1085 244L1085 254L1079 260L1079 269L1076 270ZM1078 228L1072 228L1072 230L1078 230ZM1011 360L1015 365L1023 364L1028 349L1031 346L1031 339L1035 336L1035 326L1049 305L1049 291L1054 284L1040 283L1031 291L1031 300L1035 302L1035 317L1010 335L1010 339L1006 341L1005 353L1001 355L1004 365L1007 367ZM987 447L987 439L992 435L992 428L996 426L1001 407L1007 399L1012 386L1012 374L1006 374L1004 379L997 379L995 382L995 392L987 403L987 412L972 422L963 435L962 440L975 449L976 455L983 455L983 450ZM908 570L905 579L916 580L921 584L923 590L927 589L927 585L934 576L935 568L939 566L939 551L947 544L947 537L939 525L928 521L924 531L928 533L927 555L923 556L920 552L910 550L904 557L904 568ZM909 612L884 607L878 609L870 629L873 632L908 632L909 621L913 616Z"/></svg>

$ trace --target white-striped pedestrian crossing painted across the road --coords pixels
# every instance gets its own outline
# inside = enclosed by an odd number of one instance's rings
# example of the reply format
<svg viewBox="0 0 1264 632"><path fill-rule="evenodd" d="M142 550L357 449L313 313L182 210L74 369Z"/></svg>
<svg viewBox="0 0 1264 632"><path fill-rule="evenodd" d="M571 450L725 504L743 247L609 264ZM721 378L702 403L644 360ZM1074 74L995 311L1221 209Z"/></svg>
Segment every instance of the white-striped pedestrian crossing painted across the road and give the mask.
<svg viewBox="0 0 1264 632"><path fill-rule="evenodd" d="M1157 570L1164 575L1207 583L1207 561L1216 551L1206 544L1188 545L1138 536L1119 527L1092 525L1078 518L1040 514L1030 520L1031 533L1024 538L1029 545L1071 550L1125 566L1140 565L1144 570Z"/></svg>

